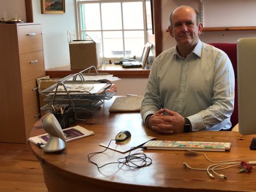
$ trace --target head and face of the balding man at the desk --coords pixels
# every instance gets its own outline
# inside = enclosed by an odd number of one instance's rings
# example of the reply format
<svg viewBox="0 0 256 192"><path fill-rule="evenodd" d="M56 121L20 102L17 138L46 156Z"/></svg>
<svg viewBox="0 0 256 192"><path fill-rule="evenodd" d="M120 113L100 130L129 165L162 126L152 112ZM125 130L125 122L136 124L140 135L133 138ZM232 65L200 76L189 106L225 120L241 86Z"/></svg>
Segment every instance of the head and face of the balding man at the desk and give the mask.
<svg viewBox="0 0 256 192"><path fill-rule="evenodd" d="M175 38L178 46L196 46L203 25L196 24L196 12L190 8L179 8L172 15L173 29L169 33Z"/></svg>

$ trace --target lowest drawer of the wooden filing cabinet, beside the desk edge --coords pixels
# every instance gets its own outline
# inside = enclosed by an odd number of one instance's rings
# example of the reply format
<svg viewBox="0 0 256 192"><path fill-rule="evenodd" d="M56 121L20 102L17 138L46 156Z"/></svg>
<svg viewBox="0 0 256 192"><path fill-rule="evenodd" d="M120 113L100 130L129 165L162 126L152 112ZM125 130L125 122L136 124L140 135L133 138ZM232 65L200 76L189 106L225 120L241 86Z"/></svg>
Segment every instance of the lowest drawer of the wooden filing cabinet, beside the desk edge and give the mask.
<svg viewBox="0 0 256 192"><path fill-rule="evenodd" d="M26 124L26 138L27 139L29 137L29 133L32 130L32 127L34 126L36 121L38 121L38 119L40 118L40 116L38 116L38 115L39 115L38 106L27 108L25 110L25 124Z"/></svg>

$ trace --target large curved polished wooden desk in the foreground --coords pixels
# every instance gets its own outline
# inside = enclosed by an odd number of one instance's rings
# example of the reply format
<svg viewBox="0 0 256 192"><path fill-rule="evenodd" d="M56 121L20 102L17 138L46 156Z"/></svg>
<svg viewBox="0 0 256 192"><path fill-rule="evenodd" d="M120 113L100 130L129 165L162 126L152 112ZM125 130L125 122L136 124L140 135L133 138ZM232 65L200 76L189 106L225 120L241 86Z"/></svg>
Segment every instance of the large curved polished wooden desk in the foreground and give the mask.
<svg viewBox="0 0 256 192"><path fill-rule="evenodd" d="M48 191L256 191L255 170L251 173L239 174L239 167L217 170L227 176L221 180L217 176L210 178L206 171L184 168L186 162L192 167L206 168L212 164L204 156L188 151L144 150L153 159L149 167L131 170L118 167L117 164L107 165L100 169L88 162L87 154L102 151L105 148L99 143L113 139L121 130L129 130L135 135L155 136L158 140L193 140L209 142L231 142L228 152L205 152L212 161L224 161L250 157L256 159L256 151L249 150L253 136L242 136L239 132L197 131L175 133L174 135L157 134L144 126L139 113L109 113L112 99L105 101L87 122L80 124L95 135L74 140L66 144L66 149L59 154L44 153L31 143L34 155L40 159L44 170L45 183ZM31 132L31 136L44 133L39 120ZM254 136L255 137L255 136ZM140 149L134 152L141 151ZM127 155L127 153L125 154ZM95 156L93 161L99 165L115 162L123 153L107 150ZM251 160L253 161L253 160ZM254 165L255 169L255 165Z"/></svg>

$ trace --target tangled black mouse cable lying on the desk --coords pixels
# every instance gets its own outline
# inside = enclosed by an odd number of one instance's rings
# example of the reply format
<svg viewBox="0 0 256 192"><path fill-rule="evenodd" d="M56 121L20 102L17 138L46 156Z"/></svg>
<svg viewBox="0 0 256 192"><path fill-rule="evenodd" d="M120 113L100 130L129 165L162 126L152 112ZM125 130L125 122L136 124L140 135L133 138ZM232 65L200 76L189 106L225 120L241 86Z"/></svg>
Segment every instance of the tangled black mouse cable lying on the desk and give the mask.
<svg viewBox="0 0 256 192"><path fill-rule="evenodd" d="M99 167L99 165L97 165L97 163L93 162L90 158L94 155L105 152L107 149L109 149L109 145L112 142L112 140L115 140L115 139L111 139L109 141L107 148L105 150L99 151L99 152L88 153L88 155L87 155L88 162L95 164L99 171L100 171L100 168L105 167L106 165L109 165L109 164L123 164L123 165L126 165L127 167L135 168L135 169L148 167L149 165L152 164L152 159L147 157L147 155L145 155L145 153L139 152L139 153L131 154L131 150L135 148L135 147L131 147L129 155L127 155L125 157L118 158L117 162L106 163Z"/></svg>

